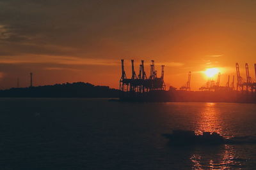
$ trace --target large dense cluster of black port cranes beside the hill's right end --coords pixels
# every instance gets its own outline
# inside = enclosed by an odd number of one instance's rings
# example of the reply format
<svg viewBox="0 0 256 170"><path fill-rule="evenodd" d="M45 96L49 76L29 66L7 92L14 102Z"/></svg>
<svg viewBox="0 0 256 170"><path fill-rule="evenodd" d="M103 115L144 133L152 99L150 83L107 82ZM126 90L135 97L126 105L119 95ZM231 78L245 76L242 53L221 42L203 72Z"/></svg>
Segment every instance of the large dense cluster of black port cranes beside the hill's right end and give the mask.
<svg viewBox="0 0 256 170"><path fill-rule="evenodd" d="M165 90L164 84L164 66L161 66L161 76L157 77L157 71L155 70L154 60L151 60L150 64L150 76L147 77L144 69L144 60L141 60L140 73L138 76L134 70L134 60L131 60L131 78L127 78L124 69L124 60L121 60L122 64L122 76L120 78L120 91L122 96L136 97L141 96L144 93L150 91Z"/></svg>

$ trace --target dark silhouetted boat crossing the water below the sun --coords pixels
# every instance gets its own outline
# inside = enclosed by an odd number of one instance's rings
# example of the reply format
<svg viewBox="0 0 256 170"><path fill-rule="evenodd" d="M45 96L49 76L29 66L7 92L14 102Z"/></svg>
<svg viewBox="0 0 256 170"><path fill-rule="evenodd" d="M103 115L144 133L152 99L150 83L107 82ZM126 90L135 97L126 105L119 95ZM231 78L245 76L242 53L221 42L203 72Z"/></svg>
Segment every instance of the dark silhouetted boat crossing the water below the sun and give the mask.
<svg viewBox="0 0 256 170"><path fill-rule="evenodd" d="M163 136L169 139L173 145L216 145L226 143L226 139L217 132L195 134L195 131L175 130L172 134L163 134Z"/></svg>

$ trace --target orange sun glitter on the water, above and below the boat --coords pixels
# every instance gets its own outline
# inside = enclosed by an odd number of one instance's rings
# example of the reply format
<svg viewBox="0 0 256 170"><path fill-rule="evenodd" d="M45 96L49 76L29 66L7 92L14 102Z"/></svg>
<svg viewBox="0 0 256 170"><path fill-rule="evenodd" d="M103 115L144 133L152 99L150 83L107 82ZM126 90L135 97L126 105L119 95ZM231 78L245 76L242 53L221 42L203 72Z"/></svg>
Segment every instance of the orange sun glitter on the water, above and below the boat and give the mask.
<svg viewBox="0 0 256 170"><path fill-rule="evenodd" d="M196 134L218 132L223 135L220 114L216 103L205 103L196 122ZM192 169L230 169L241 166L232 145L197 147L191 153L190 160Z"/></svg>

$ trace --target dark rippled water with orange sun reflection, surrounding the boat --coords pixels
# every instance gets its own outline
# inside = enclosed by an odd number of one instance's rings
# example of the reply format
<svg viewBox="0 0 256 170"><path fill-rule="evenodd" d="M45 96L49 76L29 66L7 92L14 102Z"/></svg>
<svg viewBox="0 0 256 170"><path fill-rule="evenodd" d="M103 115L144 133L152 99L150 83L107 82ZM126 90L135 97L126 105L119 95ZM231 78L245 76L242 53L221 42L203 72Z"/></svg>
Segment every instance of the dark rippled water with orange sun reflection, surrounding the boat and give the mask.
<svg viewBox="0 0 256 170"><path fill-rule="evenodd" d="M256 143L173 147L172 129L256 136L256 104L0 99L1 169L255 169Z"/></svg>

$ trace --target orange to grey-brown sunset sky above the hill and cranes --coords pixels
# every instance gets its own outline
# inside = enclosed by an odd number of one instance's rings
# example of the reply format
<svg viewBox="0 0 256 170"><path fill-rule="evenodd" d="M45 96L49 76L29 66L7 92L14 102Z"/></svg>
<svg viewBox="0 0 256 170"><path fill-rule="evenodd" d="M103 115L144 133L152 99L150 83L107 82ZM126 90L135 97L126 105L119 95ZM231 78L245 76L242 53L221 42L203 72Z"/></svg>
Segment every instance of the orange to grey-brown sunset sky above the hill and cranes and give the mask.
<svg viewBox="0 0 256 170"><path fill-rule="evenodd" d="M205 85L218 67L221 85L248 62L255 79L256 1L0 0L0 89L84 81L118 88L120 60L131 76L150 60L166 87Z"/></svg>

